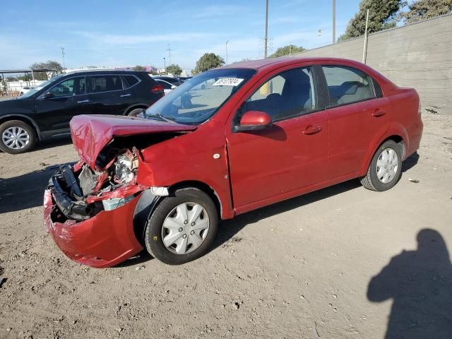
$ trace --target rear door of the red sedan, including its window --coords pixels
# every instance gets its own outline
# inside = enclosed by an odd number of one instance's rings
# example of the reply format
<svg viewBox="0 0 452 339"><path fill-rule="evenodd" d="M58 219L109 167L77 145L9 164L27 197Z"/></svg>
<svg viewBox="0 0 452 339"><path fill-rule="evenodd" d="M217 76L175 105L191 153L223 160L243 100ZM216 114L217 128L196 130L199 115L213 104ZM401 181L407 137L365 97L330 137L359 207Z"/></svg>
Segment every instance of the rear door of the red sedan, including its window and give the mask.
<svg viewBox="0 0 452 339"><path fill-rule="evenodd" d="M333 179L362 168L370 145L388 129L391 106L367 73L340 65L322 69L330 102L328 179Z"/></svg>

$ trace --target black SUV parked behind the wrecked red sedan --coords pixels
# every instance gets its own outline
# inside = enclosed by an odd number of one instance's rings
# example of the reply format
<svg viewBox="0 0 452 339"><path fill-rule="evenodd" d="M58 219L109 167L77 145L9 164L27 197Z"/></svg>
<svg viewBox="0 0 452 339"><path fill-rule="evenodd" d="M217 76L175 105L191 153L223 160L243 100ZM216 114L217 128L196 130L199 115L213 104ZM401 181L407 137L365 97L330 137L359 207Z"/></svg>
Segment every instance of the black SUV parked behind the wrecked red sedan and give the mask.
<svg viewBox="0 0 452 339"><path fill-rule="evenodd" d="M69 134L78 114L135 116L163 96L162 85L137 71L81 71L0 102L0 150L25 153L36 141Z"/></svg>

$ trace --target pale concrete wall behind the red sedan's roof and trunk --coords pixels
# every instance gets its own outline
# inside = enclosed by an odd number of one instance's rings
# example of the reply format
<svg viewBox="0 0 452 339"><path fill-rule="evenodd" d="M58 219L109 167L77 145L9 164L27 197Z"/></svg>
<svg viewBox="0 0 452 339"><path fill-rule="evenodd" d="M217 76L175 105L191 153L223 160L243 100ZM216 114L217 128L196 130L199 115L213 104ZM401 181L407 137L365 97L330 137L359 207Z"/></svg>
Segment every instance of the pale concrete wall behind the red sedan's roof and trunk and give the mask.
<svg viewBox="0 0 452 339"><path fill-rule="evenodd" d="M362 61L364 37L295 54ZM452 114L452 14L369 35L366 64L420 94L422 107Z"/></svg>

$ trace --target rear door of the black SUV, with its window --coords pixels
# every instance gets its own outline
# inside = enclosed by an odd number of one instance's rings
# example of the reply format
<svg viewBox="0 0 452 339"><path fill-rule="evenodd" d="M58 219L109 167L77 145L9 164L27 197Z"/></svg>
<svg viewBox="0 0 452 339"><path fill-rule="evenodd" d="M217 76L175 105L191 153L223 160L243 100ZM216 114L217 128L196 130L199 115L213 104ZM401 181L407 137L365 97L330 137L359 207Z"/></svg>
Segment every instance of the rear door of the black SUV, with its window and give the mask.
<svg viewBox="0 0 452 339"><path fill-rule="evenodd" d="M133 105L133 90L124 86L119 75L88 76L88 88L93 114L122 115Z"/></svg>

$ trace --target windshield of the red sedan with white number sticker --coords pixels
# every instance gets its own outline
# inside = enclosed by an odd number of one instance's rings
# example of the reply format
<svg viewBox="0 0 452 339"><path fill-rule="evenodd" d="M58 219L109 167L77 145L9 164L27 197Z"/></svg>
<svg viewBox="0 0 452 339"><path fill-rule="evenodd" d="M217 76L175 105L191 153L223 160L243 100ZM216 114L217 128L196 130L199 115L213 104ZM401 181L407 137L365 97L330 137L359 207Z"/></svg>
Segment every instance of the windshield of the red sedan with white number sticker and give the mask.
<svg viewBox="0 0 452 339"><path fill-rule="evenodd" d="M214 69L201 73L155 102L146 110L146 116L179 124L201 124L255 73L254 69Z"/></svg>

